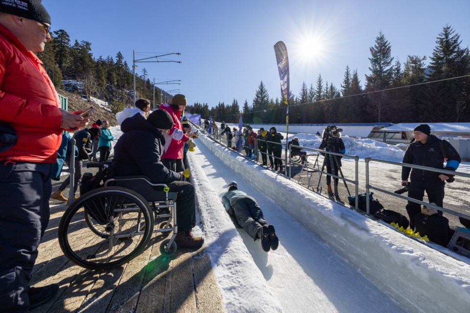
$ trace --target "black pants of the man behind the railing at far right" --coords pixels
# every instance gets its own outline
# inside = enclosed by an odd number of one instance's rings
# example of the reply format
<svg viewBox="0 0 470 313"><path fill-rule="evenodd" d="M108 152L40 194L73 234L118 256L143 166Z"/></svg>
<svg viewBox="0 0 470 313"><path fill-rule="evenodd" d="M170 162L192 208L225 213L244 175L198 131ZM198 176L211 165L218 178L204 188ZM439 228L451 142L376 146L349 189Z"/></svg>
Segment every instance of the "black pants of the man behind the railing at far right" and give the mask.
<svg viewBox="0 0 470 313"><path fill-rule="evenodd" d="M423 201L424 191L426 191L429 202L434 202L436 205L443 206L444 204L444 186L446 183L441 179L410 179L408 187L408 197L419 201ZM406 212L410 218L410 228L415 228L415 215L421 213L421 205L408 201L406 204ZM442 211L437 211L442 215Z"/></svg>

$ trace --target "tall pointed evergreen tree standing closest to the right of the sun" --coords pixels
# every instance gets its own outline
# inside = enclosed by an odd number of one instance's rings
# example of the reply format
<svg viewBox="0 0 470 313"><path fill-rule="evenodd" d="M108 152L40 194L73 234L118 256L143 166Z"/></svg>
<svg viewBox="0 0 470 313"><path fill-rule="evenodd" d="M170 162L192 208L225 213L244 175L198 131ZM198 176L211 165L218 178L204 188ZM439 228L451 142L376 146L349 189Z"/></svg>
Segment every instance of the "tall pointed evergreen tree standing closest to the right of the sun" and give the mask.
<svg viewBox="0 0 470 313"><path fill-rule="evenodd" d="M377 122L381 122L389 103L387 93L381 90L389 88L393 80L392 47L380 31L376 37L376 44L369 50L371 51L369 58L371 74L366 75L366 91L376 91L370 93L369 98L376 108Z"/></svg>

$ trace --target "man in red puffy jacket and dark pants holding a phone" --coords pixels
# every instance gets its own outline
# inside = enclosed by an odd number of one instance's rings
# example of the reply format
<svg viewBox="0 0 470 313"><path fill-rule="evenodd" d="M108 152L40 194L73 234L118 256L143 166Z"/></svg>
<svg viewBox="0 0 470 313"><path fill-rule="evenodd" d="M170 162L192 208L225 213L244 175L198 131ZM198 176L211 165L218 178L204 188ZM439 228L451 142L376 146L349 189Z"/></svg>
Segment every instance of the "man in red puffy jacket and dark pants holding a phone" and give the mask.
<svg viewBox="0 0 470 313"><path fill-rule="evenodd" d="M16 143L0 153L2 312L27 312L59 289L28 284L49 222L51 164L62 131L87 125L92 115L60 109L57 91L34 54L51 40L50 22L40 0L0 2L0 122L16 134Z"/></svg>

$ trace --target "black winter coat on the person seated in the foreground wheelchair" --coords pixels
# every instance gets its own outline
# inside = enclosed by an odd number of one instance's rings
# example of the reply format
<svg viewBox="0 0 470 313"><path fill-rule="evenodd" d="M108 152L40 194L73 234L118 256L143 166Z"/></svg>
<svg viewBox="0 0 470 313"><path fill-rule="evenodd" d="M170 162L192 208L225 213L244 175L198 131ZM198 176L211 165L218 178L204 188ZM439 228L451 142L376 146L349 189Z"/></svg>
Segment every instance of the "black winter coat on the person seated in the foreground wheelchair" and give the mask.
<svg viewBox="0 0 470 313"><path fill-rule="evenodd" d="M126 118L122 134L114 146L111 163L113 176L144 175L154 183L184 180L180 173L168 170L161 161L165 139L141 114Z"/></svg>

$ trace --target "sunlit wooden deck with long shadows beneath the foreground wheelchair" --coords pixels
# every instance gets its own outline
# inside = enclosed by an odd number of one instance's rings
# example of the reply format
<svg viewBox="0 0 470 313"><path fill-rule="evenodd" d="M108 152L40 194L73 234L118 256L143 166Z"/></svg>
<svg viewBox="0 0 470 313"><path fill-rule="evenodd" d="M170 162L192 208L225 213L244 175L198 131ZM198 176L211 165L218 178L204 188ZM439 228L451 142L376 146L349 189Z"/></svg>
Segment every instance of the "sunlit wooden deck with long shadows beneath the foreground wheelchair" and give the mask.
<svg viewBox="0 0 470 313"><path fill-rule="evenodd" d="M59 184L53 181L52 190ZM178 248L168 258L159 250L166 236L154 234L145 250L128 264L101 271L81 268L64 256L57 239L67 206L50 204L50 222L30 285L56 283L60 290L53 300L30 312L224 312L204 246L197 251Z"/></svg>

